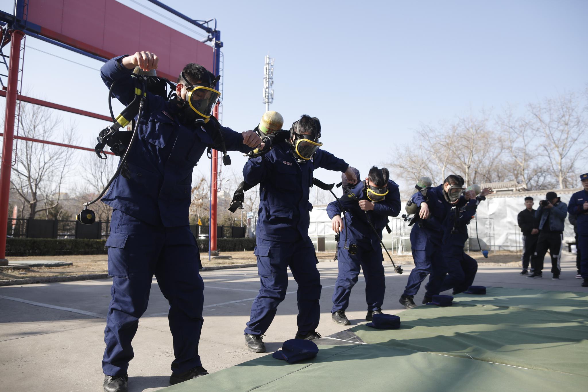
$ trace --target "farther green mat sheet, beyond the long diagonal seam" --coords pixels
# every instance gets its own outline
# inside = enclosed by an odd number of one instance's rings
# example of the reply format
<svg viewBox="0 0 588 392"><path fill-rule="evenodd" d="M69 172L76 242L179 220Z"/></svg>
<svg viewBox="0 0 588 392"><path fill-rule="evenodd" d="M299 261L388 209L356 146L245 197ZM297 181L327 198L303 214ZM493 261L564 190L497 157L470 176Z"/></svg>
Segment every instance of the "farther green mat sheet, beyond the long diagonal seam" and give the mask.
<svg viewBox="0 0 588 392"><path fill-rule="evenodd" d="M363 324L352 331L370 344L588 377L586 293L493 287L400 318L398 330Z"/></svg>

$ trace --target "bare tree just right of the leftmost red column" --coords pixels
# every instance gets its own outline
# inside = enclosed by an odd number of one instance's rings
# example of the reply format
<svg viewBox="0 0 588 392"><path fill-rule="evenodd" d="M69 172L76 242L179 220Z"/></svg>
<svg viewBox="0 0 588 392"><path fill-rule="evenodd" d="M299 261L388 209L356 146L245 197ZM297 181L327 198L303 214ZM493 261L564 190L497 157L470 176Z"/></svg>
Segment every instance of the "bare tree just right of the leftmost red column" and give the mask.
<svg viewBox="0 0 588 392"><path fill-rule="evenodd" d="M21 103L19 133L31 139L51 140L61 125L61 118L43 106ZM73 143L73 126L60 142ZM29 209L29 219L39 212L55 208L61 187L71 165L71 154L59 146L18 140L11 185Z"/></svg>

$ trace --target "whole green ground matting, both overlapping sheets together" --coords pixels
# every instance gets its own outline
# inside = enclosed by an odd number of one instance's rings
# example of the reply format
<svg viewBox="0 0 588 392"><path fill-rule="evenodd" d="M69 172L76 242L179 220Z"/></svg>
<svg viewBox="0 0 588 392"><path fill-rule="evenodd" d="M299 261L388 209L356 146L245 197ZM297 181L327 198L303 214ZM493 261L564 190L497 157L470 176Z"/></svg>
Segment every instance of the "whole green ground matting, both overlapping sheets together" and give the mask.
<svg viewBox="0 0 588 392"><path fill-rule="evenodd" d="M369 344L319 346L297 364L271 355L166 391L584 390L588 294L487 290L400 313L402 327L353 327Z"/></svg>

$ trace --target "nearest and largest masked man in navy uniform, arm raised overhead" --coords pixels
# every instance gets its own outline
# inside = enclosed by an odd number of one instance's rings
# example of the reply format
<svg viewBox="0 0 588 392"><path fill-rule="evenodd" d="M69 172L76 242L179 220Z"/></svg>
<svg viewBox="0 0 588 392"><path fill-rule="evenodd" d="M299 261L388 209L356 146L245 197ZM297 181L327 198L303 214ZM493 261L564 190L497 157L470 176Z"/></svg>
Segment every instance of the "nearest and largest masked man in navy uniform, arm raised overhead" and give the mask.
<svg viewBox="0 0 588 392"><path fill-rule="evenodd" d="M102 66L101 76L109 88L115 83L113 95L128 105L135 95L133 69L150 71L158 60L150 52L118 56ZM220 149L223 143L223 150L246 153L261 142L254 132L224 128L211 116L220 95L215 83L211 72L191 63L178 79L174 98L146 94L126 175L117 176L102 199L114 209L106 241L112 276L102 360L107 392L128 390L131 341L147 309L154 274L169 301L175 355L170 383L208 374L198 355L204 284L188 222L192 170L209 146Z"/></svg>

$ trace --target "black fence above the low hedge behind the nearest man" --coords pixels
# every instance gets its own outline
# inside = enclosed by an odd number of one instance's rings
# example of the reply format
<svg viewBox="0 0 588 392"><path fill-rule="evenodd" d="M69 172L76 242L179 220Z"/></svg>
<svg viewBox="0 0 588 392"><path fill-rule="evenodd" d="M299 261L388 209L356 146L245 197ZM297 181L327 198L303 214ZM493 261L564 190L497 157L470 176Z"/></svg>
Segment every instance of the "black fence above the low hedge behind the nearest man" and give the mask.
<svg viewBox="0 0 588 392"><path fill-rule="evenodd" d="M208 226L191 225L196 238L208 237ZM218 238L245 238L246 227L217 226ZM110 222L95 222L82 225L76 220L8 219L9 237L14 238L81 238L99 240L110 235Z"/></svg>

